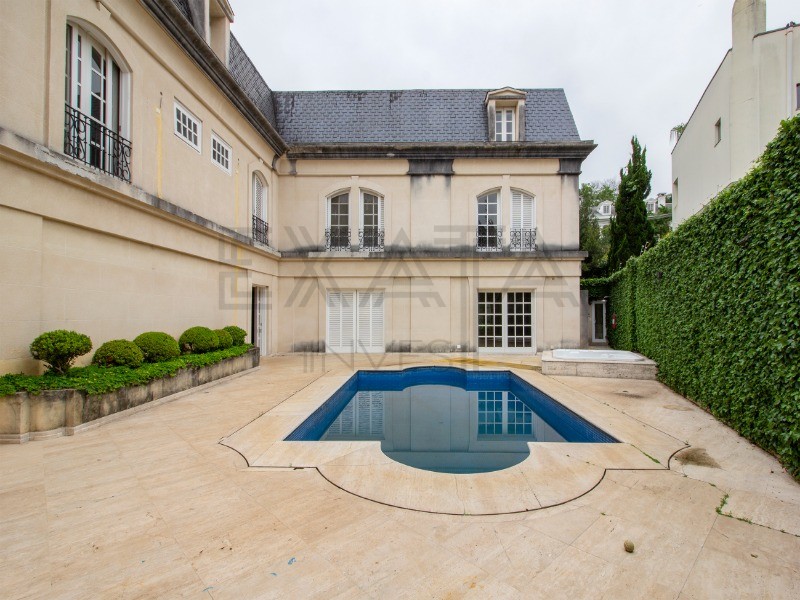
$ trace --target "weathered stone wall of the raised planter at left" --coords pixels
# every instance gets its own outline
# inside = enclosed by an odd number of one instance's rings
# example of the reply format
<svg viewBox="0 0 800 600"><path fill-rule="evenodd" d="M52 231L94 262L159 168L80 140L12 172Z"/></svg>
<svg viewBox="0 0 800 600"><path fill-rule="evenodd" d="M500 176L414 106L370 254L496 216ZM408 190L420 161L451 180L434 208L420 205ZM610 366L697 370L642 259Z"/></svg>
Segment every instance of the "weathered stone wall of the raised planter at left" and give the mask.
<svg viewBox="0 0 800 600"><path fill-rule="evenodd" d="M258 366L259 358L258 348L250 348L239 356L202 367L184 367L171 376L102 394L45 389L37 394L16 392L0 396L0 443L21 444L74 435L100 425L112 415L148 408L154 401L161 404L182 392L253 369Z"/></svg>

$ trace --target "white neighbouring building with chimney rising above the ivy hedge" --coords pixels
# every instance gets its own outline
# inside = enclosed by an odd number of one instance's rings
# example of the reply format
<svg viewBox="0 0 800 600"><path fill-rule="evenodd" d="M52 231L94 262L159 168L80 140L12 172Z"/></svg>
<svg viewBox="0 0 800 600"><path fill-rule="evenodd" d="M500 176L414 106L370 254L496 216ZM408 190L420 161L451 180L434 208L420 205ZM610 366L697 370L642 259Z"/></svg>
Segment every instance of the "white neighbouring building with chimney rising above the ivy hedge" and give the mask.
<svg viewBox="0 0 800 600"><path fill-rule="evenodd" d="M672 226L744 176L800 104L800 26L766 31L766 0L736 0L728 50L672 151Z"/></svg>

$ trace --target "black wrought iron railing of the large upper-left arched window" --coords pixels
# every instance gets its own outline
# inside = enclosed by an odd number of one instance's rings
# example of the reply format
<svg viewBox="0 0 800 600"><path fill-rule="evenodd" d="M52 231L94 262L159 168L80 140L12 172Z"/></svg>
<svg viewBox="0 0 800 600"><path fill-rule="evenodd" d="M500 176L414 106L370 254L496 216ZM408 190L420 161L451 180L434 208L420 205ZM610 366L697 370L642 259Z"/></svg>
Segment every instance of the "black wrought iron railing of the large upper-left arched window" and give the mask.
<svg viewBox="0 0 800 600"><path fill-rule="evenodd" d="M131 143L69 104L64 111L64 154L131 180Z"/></svg>

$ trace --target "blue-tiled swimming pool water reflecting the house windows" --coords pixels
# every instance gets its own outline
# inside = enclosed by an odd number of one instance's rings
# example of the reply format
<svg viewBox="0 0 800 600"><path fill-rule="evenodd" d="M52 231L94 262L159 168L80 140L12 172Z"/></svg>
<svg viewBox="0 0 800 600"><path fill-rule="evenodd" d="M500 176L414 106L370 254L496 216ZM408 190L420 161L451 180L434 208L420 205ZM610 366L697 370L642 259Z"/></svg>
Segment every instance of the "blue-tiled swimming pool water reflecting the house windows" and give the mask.
<svg viewBox="0 0 800 600"><path fill-rule="evenodd" d="M358 371L287 438L375 441L420 469L478 473L529 455L530 442L617 440L509 371Z"/></svg>

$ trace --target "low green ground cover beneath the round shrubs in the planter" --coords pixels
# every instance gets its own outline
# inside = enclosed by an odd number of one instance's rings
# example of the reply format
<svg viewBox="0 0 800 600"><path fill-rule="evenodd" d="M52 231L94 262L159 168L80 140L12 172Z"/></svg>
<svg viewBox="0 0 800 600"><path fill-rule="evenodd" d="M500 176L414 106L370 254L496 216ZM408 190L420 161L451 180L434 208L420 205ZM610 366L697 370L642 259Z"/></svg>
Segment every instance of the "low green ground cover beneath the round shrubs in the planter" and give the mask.
<svg viewBox="0 0 800 600"><path fill-rule="evenodd" d="M123 387L144 385L162 377L172 377L180 369L213 365L226 358L245 354L252 346L244 344L205 354L186 354L160 363L148 363L139 368L75 367L66 375L3 375L0 377L0 396L16 392L38 394L43 390L75 389L87 394L105 394Z"/></svg>

